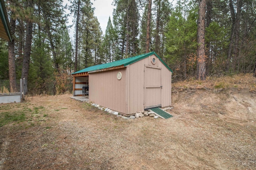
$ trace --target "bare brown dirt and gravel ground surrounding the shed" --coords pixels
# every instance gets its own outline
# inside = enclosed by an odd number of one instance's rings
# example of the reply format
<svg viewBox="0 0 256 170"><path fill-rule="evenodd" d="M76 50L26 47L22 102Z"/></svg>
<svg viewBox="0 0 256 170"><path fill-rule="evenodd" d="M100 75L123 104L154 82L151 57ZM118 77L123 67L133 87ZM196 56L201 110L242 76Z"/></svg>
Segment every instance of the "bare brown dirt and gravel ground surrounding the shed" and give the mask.
<svg viewBox="0 0 256 170"><path fill-rule="evenodd" d="M175 90L169 119L124 120L70 96L0 104L0 113L37 110L0 127L0 169L256 169L256 94L247 89Z"/></svg>

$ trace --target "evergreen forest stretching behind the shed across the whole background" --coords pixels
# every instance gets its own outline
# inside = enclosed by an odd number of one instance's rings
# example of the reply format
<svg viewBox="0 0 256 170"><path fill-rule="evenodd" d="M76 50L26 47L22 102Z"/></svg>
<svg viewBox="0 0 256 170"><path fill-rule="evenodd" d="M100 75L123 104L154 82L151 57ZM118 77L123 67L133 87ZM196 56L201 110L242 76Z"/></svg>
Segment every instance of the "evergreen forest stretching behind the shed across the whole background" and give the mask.
<svg viewBox="0 0 256 170"><path fill-rule="evenodd" d="M25 78L31 95L72 92L73 72L151 51L173 81L256 76L255 0L113 0L104 33L93 0L69 1L4 0L13 39L0 39L0 80Z"/></svg>

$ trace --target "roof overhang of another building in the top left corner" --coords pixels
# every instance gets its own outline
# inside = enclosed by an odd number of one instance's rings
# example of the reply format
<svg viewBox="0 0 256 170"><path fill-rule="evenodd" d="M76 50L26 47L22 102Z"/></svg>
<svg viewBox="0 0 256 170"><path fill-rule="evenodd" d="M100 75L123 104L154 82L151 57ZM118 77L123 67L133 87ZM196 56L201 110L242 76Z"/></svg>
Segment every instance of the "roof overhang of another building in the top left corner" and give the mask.
<svg viewBox="0 0 256 170"><path fill-rule="evenodd" d="M3 38L7 41L12 41L10 23L7 17L4 0L0 0L0 18L0 38Z"/></svg>

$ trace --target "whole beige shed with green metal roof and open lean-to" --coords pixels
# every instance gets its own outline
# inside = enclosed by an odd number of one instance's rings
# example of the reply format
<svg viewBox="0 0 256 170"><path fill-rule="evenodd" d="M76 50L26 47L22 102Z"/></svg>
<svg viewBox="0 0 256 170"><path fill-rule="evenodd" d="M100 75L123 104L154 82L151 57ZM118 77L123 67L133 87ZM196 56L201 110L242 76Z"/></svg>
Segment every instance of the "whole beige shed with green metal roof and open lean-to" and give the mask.
<svg viewBox="0 0 256 170"><path fill-rule="evenodd" d="M150 52L84 68L73 74L73 96L89 85L89 102L133 115L144 109L171 106L172 70Z"/></svg>

